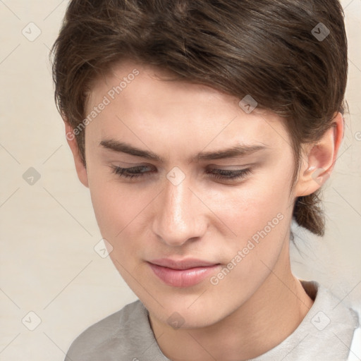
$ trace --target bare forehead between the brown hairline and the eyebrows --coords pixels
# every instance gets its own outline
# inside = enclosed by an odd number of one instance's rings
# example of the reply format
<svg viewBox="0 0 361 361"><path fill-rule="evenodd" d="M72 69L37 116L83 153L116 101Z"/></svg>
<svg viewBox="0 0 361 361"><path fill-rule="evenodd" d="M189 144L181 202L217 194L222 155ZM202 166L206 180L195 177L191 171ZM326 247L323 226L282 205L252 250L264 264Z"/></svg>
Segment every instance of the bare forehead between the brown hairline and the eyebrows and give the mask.
<svg viewBox="0 0 361 361"><path fill-rule="evenodd" d="M184 149L194 145L203 149L211 143L215 149L235 142L275 147L287 140L276 114L257 108L247 114L238 104L240 98L207 85L169 80L171 76L133 61L114 66L94 82L86 112L102 103L106 106L87 133L97 133L99 142L104 137L132 138L143 148L152 142Z"/></svg>

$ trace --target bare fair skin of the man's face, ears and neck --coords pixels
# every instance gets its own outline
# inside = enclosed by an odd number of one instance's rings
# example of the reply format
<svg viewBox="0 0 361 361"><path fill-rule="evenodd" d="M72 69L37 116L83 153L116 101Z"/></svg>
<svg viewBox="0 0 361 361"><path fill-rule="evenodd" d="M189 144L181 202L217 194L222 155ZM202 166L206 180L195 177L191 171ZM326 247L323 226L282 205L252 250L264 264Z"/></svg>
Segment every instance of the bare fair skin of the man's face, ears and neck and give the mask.
<svg viewBox="0 0 361 361"><path fill-rule="evenodd" d="M321 187L312 177L314 169L322 179L334 168L343 118L335 114L335 128L317 146L305 145L290 192L295 161L282 119L257 108L246 114L240 99L211 87L162 81L157 75L166 75L164 71L123 61L94 84L87 114L134 68L140 72L135 80L87 125L86 168L75 140L68 140L78 177L90 188L99 229L113 247L110 257L149 310L159 348L169 359L262 355L289 336L312 307L313 300L290 271L293 204L296 197ZM68 133L72 128L64 121ZM99 145L109 139L150 150L164 163ZM240 142L267 149L244 157L189 161L199 152ZM112 165L149 166L149 176L121 178L112 173ZM185 176L178 185L166 178L175 166ZM235 181L206 173L246 168L252 173ZM279 224L217 285L208 277L192 287L168 286L147 264L162 257L194 257L219 263L221 269L277 214L283 215ZM167 322L173 312L183 322L180 328Z"/></svg>

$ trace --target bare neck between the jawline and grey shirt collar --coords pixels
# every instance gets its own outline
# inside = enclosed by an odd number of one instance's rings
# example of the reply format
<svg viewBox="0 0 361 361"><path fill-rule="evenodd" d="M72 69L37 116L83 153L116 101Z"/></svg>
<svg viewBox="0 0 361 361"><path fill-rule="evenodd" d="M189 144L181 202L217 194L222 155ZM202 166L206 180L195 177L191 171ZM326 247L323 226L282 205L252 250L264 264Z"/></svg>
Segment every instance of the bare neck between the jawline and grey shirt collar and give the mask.
<svg viewBox="0 0 361 361"><path fill-rule="evenodd" d="M288 256L277 262L251 298L216 324L174 330L152 314L149 320L159 348L170 360L241 361L279 345L295 331L312 304L313 300L291 273Z"/></svg>

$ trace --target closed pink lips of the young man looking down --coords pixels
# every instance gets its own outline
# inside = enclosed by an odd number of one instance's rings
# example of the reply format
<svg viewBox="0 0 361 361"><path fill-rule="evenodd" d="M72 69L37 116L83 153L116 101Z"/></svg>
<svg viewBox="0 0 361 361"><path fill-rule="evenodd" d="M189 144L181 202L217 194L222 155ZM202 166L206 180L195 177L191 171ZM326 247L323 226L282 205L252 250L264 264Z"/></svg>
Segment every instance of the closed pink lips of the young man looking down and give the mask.
<svg viewBox="0 0 361 361"><path fill-rule="evenodd" d="M201 259L154 259L147 262L166 285L185 288L195 286L219 269L220 264Z"/></svg>

